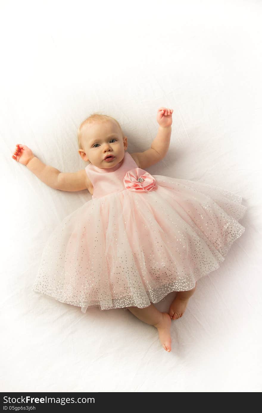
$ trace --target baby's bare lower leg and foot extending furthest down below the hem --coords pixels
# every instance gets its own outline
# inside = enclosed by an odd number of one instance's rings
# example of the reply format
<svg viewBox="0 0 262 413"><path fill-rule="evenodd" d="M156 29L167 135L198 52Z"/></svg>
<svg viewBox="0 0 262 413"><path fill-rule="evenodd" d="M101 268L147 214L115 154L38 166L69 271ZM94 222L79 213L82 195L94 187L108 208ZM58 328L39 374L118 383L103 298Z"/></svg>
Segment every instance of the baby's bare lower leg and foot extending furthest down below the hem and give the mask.
<svg viewBox="0 0 262 413"><path fill-rule="evenodd" d="M144 321L144 323L154 325L158 330L163 348L166 351L171 351L171 318L168 313L161 313L153 304L144 309L139 309L138 307L127 307L127 309L139 320Z"/></svg>

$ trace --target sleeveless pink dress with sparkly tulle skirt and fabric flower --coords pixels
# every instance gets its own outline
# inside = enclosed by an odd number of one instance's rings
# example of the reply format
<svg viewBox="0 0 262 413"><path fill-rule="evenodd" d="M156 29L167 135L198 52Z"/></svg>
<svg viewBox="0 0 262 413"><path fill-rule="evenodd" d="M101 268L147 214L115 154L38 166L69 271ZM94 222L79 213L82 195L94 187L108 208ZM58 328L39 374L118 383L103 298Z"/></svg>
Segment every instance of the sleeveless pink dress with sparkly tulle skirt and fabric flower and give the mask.
<svg viewBox="0 0 262 413"><path fill-rule="evenodd" d="M240 195L151 175L128 152L113 168L85 169L92 199L50 235L33 286L84 313L144 308L191 290L245 231Z"/></svg>

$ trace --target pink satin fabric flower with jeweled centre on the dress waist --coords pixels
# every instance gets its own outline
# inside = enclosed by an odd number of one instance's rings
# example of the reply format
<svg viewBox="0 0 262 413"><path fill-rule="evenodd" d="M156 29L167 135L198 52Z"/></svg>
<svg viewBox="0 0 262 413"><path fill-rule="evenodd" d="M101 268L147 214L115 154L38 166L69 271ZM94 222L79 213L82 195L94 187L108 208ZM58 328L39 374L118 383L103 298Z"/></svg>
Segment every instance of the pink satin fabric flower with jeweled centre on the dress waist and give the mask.
<svg viewBox="0 0 262 413"><path fill-rule="evenodd" d="M156 186L156 180L144 169L134 168L125 174L124 185L130 191L151 191Z"/></svg>

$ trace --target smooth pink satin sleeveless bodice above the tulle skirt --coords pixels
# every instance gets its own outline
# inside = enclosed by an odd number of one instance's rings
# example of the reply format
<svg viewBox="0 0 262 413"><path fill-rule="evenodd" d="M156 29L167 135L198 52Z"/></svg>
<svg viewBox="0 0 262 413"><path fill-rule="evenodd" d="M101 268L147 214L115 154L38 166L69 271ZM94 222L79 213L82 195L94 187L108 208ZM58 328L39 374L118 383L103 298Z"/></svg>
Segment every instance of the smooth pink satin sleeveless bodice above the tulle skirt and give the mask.
<svg viewBox="0 0 262 413"><path fill-rule="evenodd" d="M88 178L93 185L92 198L100 198L125 189L123 178L130 169L138 168L130 153L125 151L121 162L112 168L98 168L93 164L85 167Z"/></svg>

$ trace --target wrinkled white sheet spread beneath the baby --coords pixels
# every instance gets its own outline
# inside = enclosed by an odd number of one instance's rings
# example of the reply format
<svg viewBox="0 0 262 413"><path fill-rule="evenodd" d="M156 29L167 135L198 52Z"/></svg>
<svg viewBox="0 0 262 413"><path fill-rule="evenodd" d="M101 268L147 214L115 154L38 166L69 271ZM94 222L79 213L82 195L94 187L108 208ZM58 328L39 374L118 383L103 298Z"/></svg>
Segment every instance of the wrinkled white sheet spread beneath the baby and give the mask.
<svg viewBox="0 0 262 413"><path fill-rule="evenodd" d="M261 17L259 1L1 2L1 391L260 392ZM49 188L12 159L31 148L83 169L77 127L109 114L141 152L174 109L166 157L148 171L243 197L245 233L202 278L172 351L129 311L32 291L56 225L91 199ZM168 311L175 293L156 304Z"/></svg>

